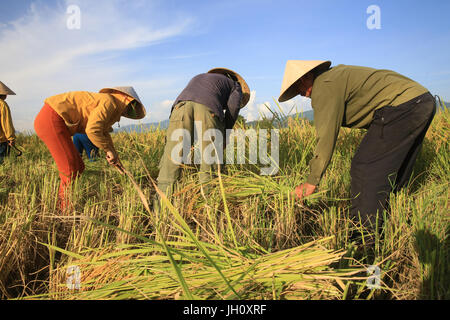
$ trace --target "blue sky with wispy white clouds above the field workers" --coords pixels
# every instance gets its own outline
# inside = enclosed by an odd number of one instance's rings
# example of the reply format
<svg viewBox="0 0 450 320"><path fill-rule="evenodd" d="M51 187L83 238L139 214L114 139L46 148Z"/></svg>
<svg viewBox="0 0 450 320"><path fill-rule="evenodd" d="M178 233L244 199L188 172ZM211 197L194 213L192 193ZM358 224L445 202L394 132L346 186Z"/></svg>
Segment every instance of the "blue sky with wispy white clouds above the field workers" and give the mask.
<svg viewBox="0 0 450 320"><path fill-rule="evenodd" d="M146 105L143 122L165 120L196 74L239 72L252 98L249 120L277 109L286 61L331 60L400 72L450 100L450 1L1 0L0 80L15 126L32 130L46 97L132 85ZM81 28L69 30L77 5ZM381 29L369 30L370 5ZM281 106L310 109L308 99ZM122 120L121 124L129 121Z"/></svg>

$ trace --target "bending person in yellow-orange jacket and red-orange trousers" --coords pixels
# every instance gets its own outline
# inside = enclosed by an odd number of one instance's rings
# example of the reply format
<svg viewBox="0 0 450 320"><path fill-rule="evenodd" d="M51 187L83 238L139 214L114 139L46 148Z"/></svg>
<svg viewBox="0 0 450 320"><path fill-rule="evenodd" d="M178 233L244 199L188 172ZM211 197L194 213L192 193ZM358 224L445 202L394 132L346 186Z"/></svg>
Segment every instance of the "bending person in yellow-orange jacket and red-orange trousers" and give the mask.
<svg viewBox="0 0 450 320"><path fill-rule="evenodd" d="M106 153L110 165L120 164L109 132L126 117L142 119L146 111L132 87L104 88L99 93L73 91L49 97L34 121L38 137L46 144L58 167L61 183L59 199L66 209L67 187L84 171L84 163L71 137L86 133L92 143Z"/></svg>

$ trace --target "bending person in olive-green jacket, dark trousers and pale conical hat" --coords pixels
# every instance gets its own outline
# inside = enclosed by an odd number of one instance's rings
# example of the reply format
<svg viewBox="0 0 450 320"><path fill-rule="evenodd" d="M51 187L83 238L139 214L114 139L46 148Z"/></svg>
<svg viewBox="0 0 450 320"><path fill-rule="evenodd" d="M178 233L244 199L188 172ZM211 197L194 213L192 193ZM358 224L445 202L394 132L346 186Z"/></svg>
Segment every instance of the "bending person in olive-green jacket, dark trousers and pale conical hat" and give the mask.
<svg viewBox="0 0 450 320"><path fill-rule="evenodd" d="M433 96L419 83L390 70L290 60L278 101L311 98L317 145L298 199L313 194L330 163L341 126L367 133L351 164L350 214L375 230L388 208L389 193L412 174L425 134L436 112ZM379 224L380 226L381 224Z"/></svg>

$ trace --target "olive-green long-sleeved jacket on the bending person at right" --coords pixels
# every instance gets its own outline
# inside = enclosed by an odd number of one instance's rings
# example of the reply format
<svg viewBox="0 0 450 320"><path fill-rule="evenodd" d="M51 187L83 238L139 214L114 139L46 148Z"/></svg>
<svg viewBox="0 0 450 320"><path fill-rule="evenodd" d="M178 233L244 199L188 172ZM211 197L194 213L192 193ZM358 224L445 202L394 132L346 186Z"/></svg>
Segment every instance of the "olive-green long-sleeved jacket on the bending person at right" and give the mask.
<svg viewBox="0 0 450 320"><path fill-rule="evenodd" d="M338 65L320 74L311 93L317 145L307 183L319 184L341 126L368 128L375 110L398 106L426 92L417 82L390 70Z"/></svg>

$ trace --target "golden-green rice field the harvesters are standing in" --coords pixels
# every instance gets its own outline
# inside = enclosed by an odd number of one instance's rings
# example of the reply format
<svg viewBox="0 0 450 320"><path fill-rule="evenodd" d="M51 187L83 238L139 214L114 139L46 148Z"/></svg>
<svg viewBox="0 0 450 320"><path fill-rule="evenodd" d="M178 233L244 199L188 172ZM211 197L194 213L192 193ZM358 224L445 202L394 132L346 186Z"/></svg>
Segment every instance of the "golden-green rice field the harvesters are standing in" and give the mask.
<svg viewBox="0 0 450 320"><path fill-rule="evenodd" d="M299 203L291 191L308 174L315 129L283 115L260 126L280 119L288 125L280 129L277 175L227 165L205 194L187 166L158 212L164 130L113 134L133 179L103 158L86 160L67 212L58 209L49 152L37 136L19 136L23 156L0 166L0 297L449 299L448 110L436 115L409 186L391 195L373 246L361 245L369 234L348 218L350 163L364 132L341 130L320 192ZM352 241L352 232L362 240ZM377 289L367 286L373 265ZM79 271L79 287L68 285L69 270Z"/></svg>

